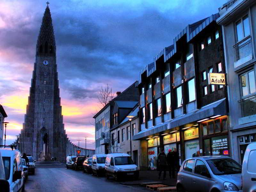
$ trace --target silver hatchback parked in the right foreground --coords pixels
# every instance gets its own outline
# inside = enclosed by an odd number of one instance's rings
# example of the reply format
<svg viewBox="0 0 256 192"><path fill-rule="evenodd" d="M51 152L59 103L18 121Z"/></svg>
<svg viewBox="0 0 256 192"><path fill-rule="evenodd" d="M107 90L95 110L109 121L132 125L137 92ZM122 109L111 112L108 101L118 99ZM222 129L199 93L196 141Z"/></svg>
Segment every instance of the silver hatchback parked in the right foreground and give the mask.
<svg viewBox="0 0 256 192"><path fill-rule="evenodd" d="M186 159L178 173L177 191L242 192L242 166L227 156Z"/></svg>

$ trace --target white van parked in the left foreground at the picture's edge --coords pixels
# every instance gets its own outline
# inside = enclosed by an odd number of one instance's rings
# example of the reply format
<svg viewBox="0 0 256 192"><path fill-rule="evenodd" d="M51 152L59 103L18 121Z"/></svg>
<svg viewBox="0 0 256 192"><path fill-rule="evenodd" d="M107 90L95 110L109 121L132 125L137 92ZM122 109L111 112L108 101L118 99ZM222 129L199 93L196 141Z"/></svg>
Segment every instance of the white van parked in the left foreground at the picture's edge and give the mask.
<svg viewBox="0 0 256 192"><path fill-rule="evenodd" d="M23 174L23 167L21 164L21 154L19 150L11 149L11 148L0 148L1 153L1 162L4 168L0 167L0 170L4 170L5 181L2 180L1 183L1 191L25 191L25 183ZM8 183L6 182L8 181ZM4 189L5 188L5 189Z"/></svg>

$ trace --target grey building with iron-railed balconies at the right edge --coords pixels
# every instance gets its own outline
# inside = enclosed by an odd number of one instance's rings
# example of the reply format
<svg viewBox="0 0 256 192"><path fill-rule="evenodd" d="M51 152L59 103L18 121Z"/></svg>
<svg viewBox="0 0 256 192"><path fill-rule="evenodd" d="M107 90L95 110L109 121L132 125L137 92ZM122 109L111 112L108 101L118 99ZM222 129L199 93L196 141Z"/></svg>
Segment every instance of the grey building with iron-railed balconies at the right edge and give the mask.
<svg viewBox="0 0 256 192"><path fill-rule="evenodd" d="M219 13L228 74L232 157L242 163L247 145L256 141L256 2L228 1Z"/></svg>

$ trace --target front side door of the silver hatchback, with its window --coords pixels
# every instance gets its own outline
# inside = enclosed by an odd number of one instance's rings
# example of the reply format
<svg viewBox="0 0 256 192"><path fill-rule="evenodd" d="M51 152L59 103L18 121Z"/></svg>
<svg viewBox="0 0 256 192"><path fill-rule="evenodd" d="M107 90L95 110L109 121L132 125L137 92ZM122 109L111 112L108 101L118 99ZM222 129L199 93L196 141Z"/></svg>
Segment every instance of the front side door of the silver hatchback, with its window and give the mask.
<svg viewBox="0 0 256 192"><path fill-rule="evenodd" d="M194 177L192 178L192 186L195 192L209 191L209 171L206 165L201 160L196 160L194 169ZM208 177L207 177L208 175Z"/></svg>

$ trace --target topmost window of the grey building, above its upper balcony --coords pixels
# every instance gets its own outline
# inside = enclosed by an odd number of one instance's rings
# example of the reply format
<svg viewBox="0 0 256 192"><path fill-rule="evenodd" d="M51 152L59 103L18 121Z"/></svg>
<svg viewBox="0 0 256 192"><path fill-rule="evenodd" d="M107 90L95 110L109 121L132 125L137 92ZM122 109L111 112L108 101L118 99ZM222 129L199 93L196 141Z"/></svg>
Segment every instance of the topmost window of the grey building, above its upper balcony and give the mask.
<svg viewBox="0 0 256 192"><path fill-rule="evenodd" d="M250 26L248 15L236 22L236 38L241 41L244 37L250 35Z"/></svg>

